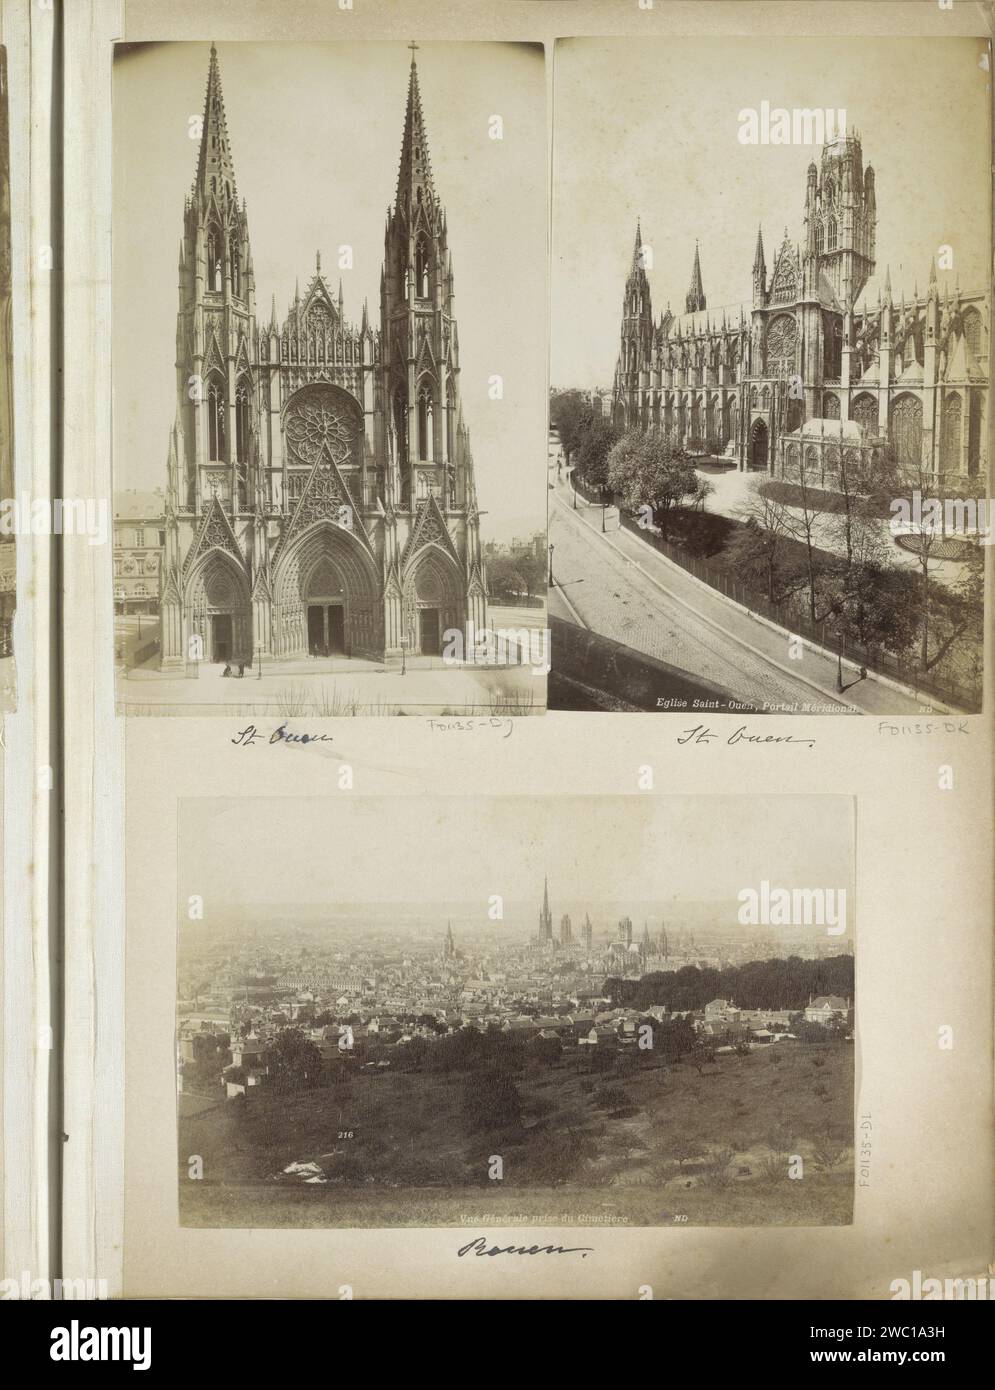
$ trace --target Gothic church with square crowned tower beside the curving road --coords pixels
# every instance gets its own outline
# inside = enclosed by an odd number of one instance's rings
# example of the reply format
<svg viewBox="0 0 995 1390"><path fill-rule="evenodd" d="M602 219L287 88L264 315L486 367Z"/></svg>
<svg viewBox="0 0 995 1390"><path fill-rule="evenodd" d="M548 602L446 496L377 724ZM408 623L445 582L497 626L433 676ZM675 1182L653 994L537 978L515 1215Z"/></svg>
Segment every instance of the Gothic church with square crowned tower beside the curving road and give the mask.
<svg viewBox="0 0 995 1390"><path fill-rule="evenodd" d="M709 309L695 247L685 313L659 320L636 227L614 423L739 468L796 478L805 467L825 486L845 450L885 446L917 475L984 478L987 296L941 291L935 264L926 292L896 299L889 274L873 291L875 225L874 170L848 133L809 165L802 239L785 228L770 268L757 231L749 299Z"/></svg>

